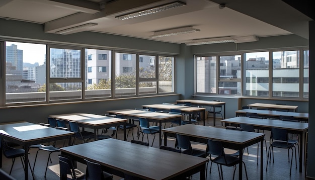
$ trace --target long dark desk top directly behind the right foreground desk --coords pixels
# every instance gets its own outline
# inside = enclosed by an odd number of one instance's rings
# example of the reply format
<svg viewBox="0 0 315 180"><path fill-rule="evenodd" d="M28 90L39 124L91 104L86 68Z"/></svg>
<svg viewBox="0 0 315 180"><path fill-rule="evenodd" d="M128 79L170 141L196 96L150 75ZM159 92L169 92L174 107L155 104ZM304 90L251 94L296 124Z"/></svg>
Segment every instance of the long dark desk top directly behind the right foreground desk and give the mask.
<svg viewBox="0 0 315 180"><path fill-rule="evenodd" d="M248 118L248 117L234 117L229 119L221 120L226 123L235 123L235 124L250 124L260 127L274 127L281 128L293 131L306 131L308 129L308 123L298 123L290 121L281 121L281 120L272 120L272 119L257 119L257 118Z"/></svg>

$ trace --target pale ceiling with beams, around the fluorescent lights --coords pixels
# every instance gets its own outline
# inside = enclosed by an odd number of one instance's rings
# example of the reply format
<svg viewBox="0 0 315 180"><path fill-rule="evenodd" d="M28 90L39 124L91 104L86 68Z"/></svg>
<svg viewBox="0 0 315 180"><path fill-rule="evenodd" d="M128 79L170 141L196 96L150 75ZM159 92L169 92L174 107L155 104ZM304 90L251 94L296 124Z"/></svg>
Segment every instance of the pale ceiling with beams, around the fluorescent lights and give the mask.
<svg viewBox="0 0 315 180"><path fill-rule="evenodd" d="M180 0L186 6L128 20L115 18L175 1L1 0L0 17L44 24L46 33L96 23L97 26L71 33L94 31L173 43L252 35L260 38L296 34L308 39L308 21L311 18L281 0ZM225 8L220 9L219 4L225 4ZM200 31L160 38L150 37L154 31L187 26L193 26Z"/></svg>

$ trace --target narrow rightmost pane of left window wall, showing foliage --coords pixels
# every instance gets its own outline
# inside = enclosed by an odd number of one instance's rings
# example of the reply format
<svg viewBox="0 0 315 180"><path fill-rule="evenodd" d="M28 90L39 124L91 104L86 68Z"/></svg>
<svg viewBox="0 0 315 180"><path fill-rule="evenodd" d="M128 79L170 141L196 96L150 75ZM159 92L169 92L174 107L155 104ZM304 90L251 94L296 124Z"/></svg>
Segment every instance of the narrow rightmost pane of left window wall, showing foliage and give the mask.
<svg viewBox="0 0 315 180"><path fill-rule="evenodd" d="M174 92L174 57L159 56L159 93Z"/></svg>

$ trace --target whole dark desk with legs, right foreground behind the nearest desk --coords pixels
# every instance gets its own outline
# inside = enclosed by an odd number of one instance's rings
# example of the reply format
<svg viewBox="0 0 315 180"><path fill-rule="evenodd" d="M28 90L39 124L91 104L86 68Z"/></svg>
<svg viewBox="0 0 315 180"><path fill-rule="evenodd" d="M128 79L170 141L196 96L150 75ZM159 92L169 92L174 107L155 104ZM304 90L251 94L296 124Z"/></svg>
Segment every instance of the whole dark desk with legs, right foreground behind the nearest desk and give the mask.
<svg viewBox="0 0 315 180"><path fill-rule="evenodd" d="M264 134L253 133L246 131L235 131L225 128L215 128L210 126L198 126L193 124L186 124L176 126L173 128L163 129L164 131L164 145L167 145L167 137L176 137L176 134L190 136L191 141L206 143L207 139L221 141L223 146L230 149L239 150L243 154L245 147L251 146L260 142L261 151L263 154ZM239 179L243 176L243 156L240 155L239 163ZM260 156L260 179L263 179L263 155Z"/></svg>

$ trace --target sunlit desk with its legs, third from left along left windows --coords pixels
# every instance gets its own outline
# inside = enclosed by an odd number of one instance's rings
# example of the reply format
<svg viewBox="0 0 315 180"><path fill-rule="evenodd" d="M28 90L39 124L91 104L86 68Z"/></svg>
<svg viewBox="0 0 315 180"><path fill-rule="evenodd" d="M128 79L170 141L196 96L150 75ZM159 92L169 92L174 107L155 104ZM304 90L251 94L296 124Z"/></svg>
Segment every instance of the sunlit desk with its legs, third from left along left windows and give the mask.
<svg viewBox="0 0 315 180"><path fill-rule="evenodd" d="M110 110L107 111L110 114L120 114L128 119L138 119L138 117L146 118L150 122L159 122L160 126L160 146L162 145L162 123L179 120L181 122L182 115L168 114L168 113L155 113L150 111L123 109L123 110Z"/></svg>

